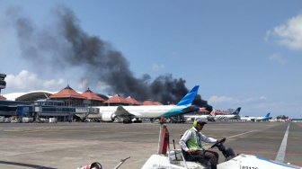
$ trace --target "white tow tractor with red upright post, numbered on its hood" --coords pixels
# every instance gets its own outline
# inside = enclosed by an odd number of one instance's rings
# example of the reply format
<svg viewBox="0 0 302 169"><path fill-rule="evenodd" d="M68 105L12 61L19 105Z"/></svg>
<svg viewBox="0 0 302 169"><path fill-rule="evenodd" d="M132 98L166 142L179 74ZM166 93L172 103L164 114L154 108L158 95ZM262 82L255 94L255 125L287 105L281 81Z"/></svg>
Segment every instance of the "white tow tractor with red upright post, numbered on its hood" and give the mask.
<svg viewBox="0 0 302 169"><path fill-rule="evenodd" d="M225 156L225 161L218 164L218 169L289 169L302 168L300 166L288 165L276 162L270 159L253 155L235 155L234 150L225 147L223 138L214 144L219 151ZM205 165L208 164L208 165ZM210 168L209 162L200 164L190 162L185 159L182 149L175 149L173 140L173 149L170 149L169 132L164 124L161 124L157 154L149 157L145 165L141 169L203 169Z"/></svg>

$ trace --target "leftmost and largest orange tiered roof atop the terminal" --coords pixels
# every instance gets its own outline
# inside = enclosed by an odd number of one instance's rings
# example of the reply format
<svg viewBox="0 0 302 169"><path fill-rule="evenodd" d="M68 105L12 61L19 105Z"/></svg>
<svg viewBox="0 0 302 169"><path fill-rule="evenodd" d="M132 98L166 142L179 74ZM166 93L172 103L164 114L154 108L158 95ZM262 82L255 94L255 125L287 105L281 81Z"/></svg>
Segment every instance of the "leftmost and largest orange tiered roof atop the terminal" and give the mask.
<svg viewBox="0 0 302 169"><path fill-rule="evenodd" d="M62 98L73 98L73 99L83 99L83 100L86 99L80 93L77 93L74 89L72 89L69 85L67 85L67 87L65 87L58 93L54 93L49 96L49 99L62 99Z"/></svg>

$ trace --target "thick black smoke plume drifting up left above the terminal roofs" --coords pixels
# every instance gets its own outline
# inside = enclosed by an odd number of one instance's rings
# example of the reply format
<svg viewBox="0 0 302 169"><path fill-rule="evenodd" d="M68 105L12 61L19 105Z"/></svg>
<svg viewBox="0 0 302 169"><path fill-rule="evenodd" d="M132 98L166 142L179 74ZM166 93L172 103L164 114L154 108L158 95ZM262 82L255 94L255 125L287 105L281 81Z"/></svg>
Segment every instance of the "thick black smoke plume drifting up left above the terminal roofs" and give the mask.
<svg viewBox="0 0 302 169"><path fill-rule="evenodd" d="M177 103L188 93L182 78L165 75L151 82L147 74L140 78L134 76L122 53L113 49L109 42L83 31L76 15L67 7L54 10L53 23L47 29L35 28L30 19L12 9L7 15L16 28L22 56L39 62L36 65L51 66L57 71L80 67L84 72L80 78L88 79L90 86L102 82L111 87L112 93L131 95L139 101ZM200 95L194 103L209 107Z"/></svg>

